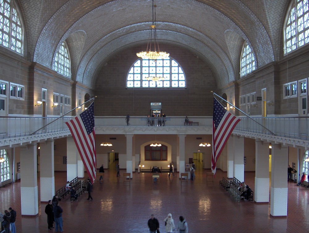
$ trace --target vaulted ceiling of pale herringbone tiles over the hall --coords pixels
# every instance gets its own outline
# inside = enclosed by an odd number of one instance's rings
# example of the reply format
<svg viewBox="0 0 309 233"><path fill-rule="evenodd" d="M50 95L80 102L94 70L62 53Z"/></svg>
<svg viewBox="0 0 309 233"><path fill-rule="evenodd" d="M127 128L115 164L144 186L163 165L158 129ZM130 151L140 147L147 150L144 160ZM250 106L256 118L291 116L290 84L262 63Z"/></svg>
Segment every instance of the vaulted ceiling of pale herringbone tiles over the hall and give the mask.
<svg viewBox="0 0 309 233"><path fill-rule="evenodd" d="M89 87L114 54L147 44L152 0L20 0L26 15L25 54L51 67L63 41L70 47L72 79ZM52 4L51 4L52 2ZM155 0L159 43L180 46L207 62L218 87L239 79L243 41L258 67L280 55L285 0ZM27 51L28 50L28 51Z"/></svg>

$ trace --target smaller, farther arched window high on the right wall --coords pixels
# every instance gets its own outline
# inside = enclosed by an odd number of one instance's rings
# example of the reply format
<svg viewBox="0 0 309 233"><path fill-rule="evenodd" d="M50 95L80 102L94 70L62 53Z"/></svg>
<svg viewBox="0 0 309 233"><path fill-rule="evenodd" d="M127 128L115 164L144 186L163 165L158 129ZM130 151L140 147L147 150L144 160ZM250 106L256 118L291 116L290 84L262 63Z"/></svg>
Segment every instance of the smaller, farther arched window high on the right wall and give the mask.
<svg viewBox="0 0 309 233"><path fill-rule="evenodd" d="M256 69L256 59L247 42L243 43L240 59L240 76L251 73Z"/></svg>

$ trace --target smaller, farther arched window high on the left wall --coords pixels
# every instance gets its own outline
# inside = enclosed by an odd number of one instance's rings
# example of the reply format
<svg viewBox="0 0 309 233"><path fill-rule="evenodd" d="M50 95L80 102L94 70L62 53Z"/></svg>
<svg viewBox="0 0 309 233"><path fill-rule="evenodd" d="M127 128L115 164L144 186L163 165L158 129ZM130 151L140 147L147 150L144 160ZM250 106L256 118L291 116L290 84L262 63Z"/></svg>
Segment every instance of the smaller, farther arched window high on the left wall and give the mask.
<svg viewBox="0 0 309 233"><path fill-rule="evenodd" d="M68 51L66 43L63 42L55 56L53 70L71 77L70 54Z"/></svg>

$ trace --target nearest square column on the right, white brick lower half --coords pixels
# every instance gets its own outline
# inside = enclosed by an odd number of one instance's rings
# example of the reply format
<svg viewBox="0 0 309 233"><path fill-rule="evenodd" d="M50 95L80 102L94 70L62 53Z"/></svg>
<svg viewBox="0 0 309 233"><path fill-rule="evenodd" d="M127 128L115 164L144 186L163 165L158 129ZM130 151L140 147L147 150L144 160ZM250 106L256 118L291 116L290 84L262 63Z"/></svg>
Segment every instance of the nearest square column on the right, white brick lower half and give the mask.
<svg viewBox="0 0 309 233"><path fill-rule="evenodd" d="M286 216L288 200L287 172L288 146L272 144L270 215Z"/></svg>

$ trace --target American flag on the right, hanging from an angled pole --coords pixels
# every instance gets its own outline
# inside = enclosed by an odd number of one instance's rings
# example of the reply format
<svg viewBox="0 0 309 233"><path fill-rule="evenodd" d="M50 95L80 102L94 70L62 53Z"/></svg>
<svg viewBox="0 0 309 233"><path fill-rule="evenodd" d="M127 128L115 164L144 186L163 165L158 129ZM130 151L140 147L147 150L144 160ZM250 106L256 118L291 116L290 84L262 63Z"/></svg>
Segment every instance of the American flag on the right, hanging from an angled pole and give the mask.
<svg viewBox="0 0 309 233"><path fill-rule="evenodd" d="M238 117L227 111L219 102L214 98L214 116L213 116L213 137L212 137L212 157L211 157L211 170L216 174L216 163L224 148L227 140L229 139L233 129L240 121Z"/></svg>

